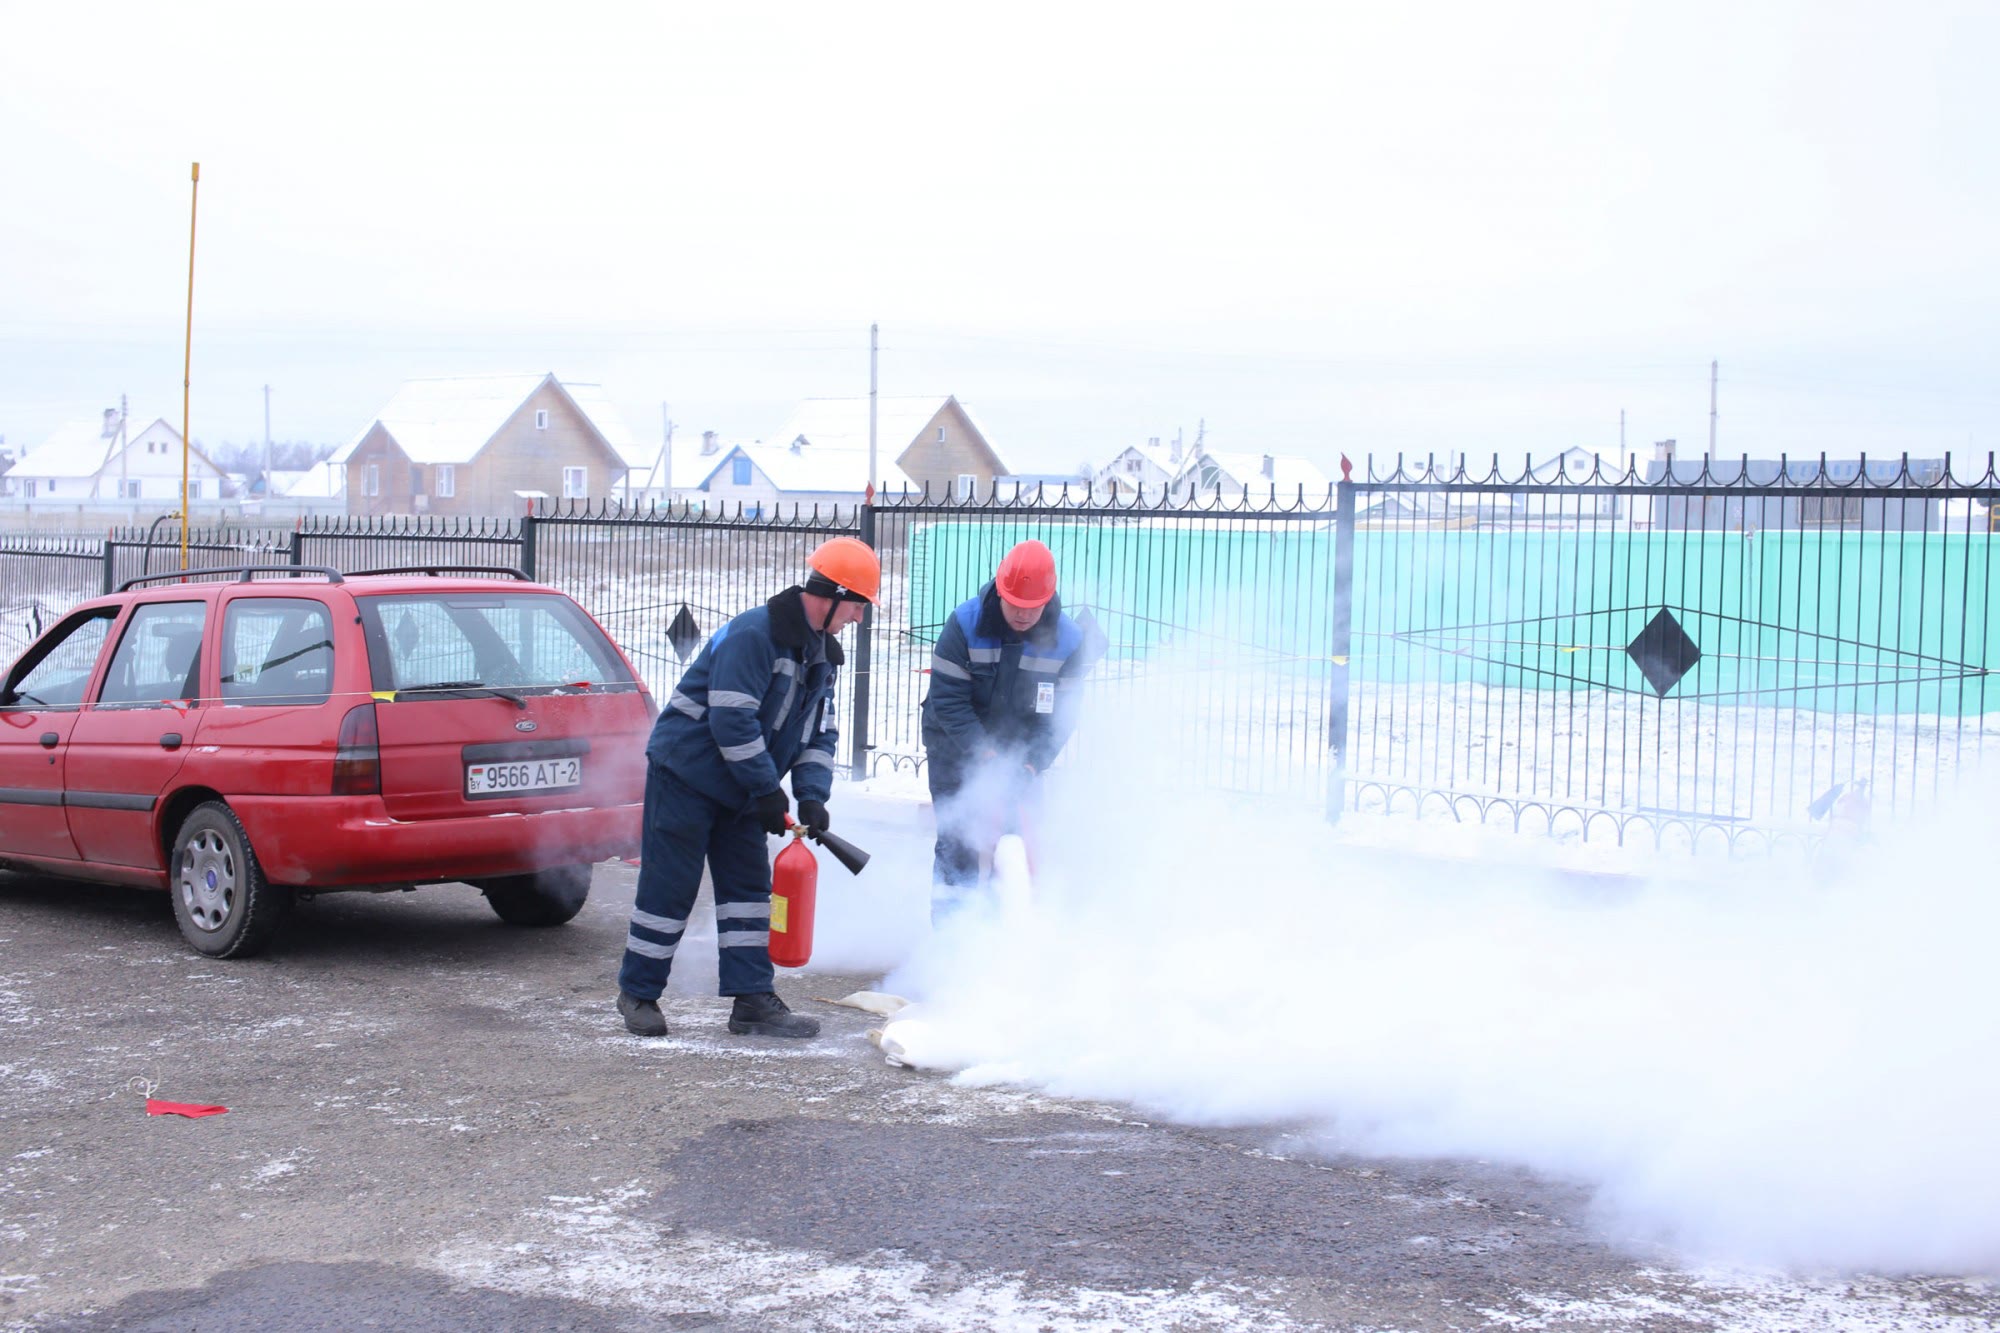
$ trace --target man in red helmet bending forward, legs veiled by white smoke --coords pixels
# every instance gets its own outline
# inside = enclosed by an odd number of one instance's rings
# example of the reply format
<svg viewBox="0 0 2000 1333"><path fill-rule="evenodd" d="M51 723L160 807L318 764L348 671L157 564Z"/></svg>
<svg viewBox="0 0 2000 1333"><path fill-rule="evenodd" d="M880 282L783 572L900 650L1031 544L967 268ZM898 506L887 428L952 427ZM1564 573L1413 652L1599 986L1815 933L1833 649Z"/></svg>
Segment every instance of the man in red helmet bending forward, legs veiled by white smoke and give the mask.
<svg viewBox="0 0 2000 1333"><path fill-rule="evenodd" d="M1104 654L1094 624L1056 596L1056 554L1006 552L992 582L944 622L924 697L924 765L938 817L932 921L980 893L980 863L1076 729L1078 687Z"/></svg>

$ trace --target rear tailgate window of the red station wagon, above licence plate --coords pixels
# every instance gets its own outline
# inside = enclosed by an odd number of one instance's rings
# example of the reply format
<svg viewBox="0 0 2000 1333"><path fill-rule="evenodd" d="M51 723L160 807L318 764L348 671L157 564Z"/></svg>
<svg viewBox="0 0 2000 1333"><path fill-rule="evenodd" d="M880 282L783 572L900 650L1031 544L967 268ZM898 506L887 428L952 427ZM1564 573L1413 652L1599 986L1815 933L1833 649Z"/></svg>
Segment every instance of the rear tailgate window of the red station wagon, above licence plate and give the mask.
<svg viewBox="0 0 2000 1333"><path fill-rule="evenodd" d="M356 602L378 691L634 685L596 620L558 592L418 592Z"/></svg>

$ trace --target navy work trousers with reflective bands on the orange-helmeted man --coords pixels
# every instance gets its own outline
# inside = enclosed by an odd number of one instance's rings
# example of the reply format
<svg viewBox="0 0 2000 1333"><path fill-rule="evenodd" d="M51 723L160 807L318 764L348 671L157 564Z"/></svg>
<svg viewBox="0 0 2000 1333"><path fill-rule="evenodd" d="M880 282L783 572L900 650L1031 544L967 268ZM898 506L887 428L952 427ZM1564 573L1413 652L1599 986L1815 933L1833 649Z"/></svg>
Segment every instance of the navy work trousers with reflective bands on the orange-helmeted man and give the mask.
<svg viewBox="0 0 2000 1333"><path fill-rule="evenodd" d="M646 829L640 841L638 897L618 969L618 989L660 999L674 951L702 889L708 861L716 895L716 955L722 995L772 989L770 843L756 815L732 811L694 791L660 765L646 773Z"/></svg>

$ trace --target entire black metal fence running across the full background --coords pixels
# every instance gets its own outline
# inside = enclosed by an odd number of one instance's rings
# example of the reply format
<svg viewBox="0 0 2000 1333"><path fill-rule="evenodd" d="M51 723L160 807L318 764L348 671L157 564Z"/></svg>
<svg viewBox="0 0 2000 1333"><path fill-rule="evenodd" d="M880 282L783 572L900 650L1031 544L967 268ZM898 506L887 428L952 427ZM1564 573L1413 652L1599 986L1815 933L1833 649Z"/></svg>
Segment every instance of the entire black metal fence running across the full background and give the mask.
<svg viewBox="0 0 2000 1333"><path fill-rule="evenodd" d="M1190 785L1568 839L1808 837L1842 793L1936 797L2000 737L1992 462L1404 466L1268 502L1034 494L792 512L544 508L190 532L190 562L514 566L658 697L832 534L882 552L842 701L856 775L922 767L946 616L1036 536L1110 648L1072 749L1154 745ZM158 524L156 524L158 528ZM178 564L180 534L0 544L12 650ZM1994 719L1994 721L1990 721Z"/></svg>

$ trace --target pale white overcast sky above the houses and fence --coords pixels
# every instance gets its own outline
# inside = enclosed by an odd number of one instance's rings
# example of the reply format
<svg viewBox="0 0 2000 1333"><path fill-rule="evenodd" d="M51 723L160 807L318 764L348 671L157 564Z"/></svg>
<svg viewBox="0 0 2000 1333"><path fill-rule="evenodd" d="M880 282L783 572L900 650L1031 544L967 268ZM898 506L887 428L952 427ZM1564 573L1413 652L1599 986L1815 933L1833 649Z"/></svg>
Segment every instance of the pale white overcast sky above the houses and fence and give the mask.
<svg viewBox="0 0 2000 1333"><path fill-rule="evenodd" d="M2000 448L2000 6L0 0L0 434L968 402L1016 468ZM1690 450L1694 442L1694 450Z"/></svg>

